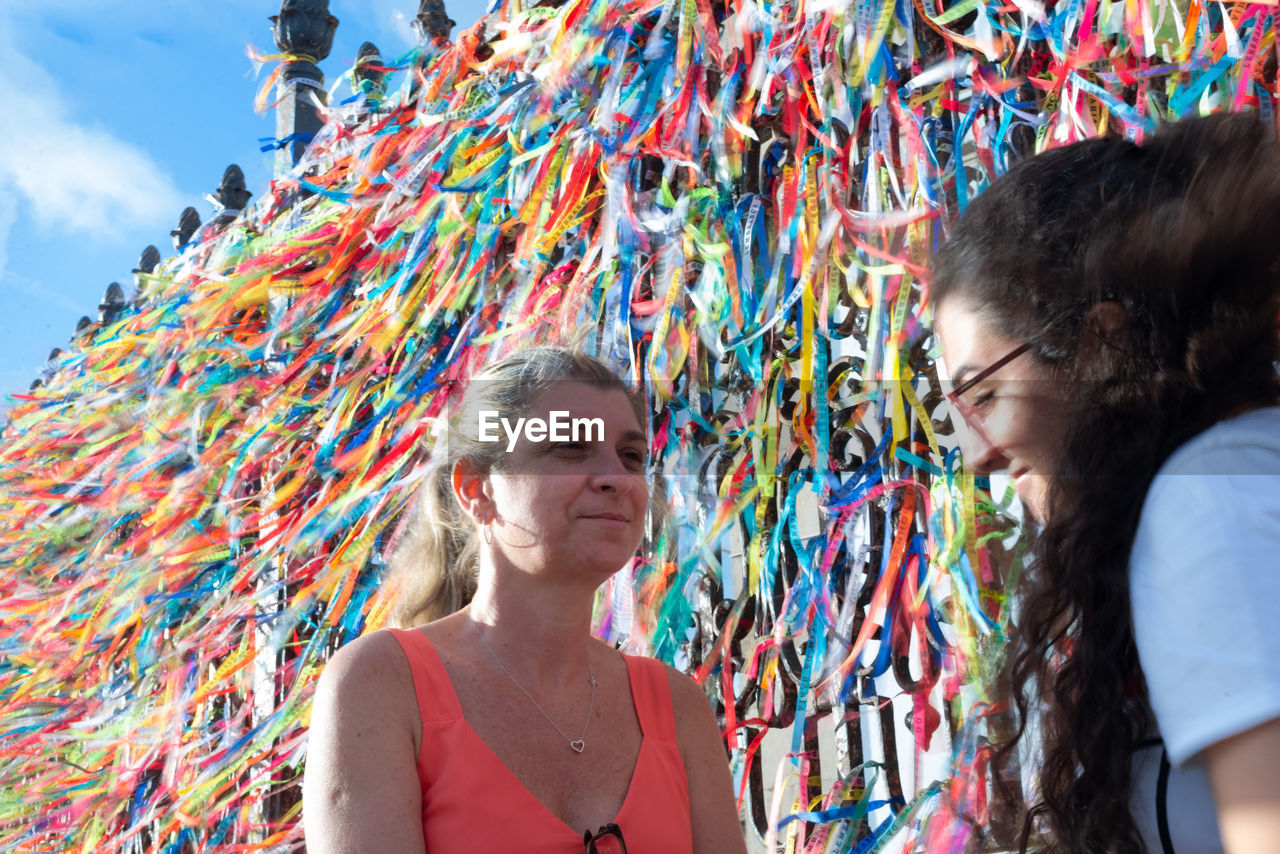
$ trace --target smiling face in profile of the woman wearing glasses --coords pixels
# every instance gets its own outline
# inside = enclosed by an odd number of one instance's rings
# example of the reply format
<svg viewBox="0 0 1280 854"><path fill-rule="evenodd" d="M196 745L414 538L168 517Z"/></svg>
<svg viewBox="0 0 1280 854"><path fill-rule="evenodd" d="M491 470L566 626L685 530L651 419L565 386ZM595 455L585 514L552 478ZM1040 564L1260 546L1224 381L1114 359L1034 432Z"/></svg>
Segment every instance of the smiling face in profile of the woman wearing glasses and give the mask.
<svg viewBox="0 0 1280 854"><path fill-rule="evenodd" d="M997 332L963 298L937 306L933 329L942 348L943 385L948 389L959 388L1024 344ZM1041 522L1047 521L1050 479L1062 457L1071 417L1068 384L1052 376L1032 353L1023 352L954 403L952 420L965 466L974 474L1007 472L1028 512Z"/></svg>

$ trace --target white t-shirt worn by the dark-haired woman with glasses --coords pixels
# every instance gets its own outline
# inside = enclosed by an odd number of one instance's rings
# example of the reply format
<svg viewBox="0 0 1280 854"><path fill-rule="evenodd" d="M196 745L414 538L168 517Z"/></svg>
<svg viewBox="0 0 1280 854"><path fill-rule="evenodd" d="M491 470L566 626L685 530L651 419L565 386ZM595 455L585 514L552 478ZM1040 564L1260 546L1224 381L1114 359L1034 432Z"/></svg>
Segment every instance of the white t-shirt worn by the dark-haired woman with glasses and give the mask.
<svg viewBox="0 0 1280 854"><path fill-rule="evenodd" d="M1172 763L1178 854L1217 854L1198 761L1215 741L1280 717L1280 407L1221 421L1165 461L1129 561L1134 638ZM1156 834L1160 748L1135 757L1134 817Z"/></svg>

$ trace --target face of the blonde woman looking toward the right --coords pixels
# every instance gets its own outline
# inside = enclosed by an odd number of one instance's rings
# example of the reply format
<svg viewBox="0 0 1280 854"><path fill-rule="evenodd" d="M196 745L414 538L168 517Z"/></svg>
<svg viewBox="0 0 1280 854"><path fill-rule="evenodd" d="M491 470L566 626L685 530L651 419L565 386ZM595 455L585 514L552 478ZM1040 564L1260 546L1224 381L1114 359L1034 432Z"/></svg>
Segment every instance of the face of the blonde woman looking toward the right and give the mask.
<svg viewBox="0 0 1280 854"><path fill-rule="evenodd" d="M573 382L534 397L525 419L498 426L503 458L485 476L495 556L598 584L644 535L644 429L625 393Z"/></svg>

